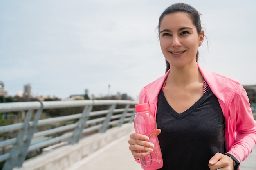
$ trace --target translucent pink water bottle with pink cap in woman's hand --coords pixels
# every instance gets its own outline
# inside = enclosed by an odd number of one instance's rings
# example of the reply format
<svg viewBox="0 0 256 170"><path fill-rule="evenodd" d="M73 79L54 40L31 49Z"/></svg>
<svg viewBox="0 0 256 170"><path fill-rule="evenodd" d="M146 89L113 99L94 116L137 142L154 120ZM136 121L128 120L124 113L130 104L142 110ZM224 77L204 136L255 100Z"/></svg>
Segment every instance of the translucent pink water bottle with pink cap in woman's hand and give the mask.
<svg viewBox="0 0 256 170"><path fill-rule="evenodd" d="M156 170L162 168L163 159L159 141L156 134L157 123L155 121L155 117L149 110L148 103L135 105L135 110L135 132L147 135L149 137L148 141L155 145L153 148L153 152L151 152L146 157L142 157L139 159L141 168L144 170Z"/></svg>

